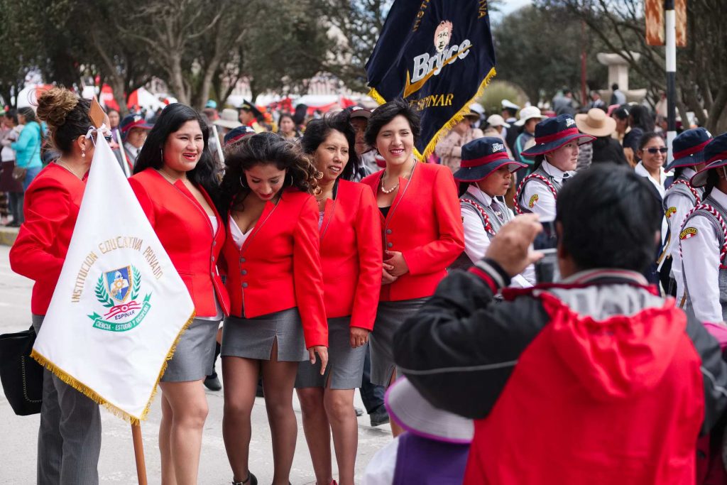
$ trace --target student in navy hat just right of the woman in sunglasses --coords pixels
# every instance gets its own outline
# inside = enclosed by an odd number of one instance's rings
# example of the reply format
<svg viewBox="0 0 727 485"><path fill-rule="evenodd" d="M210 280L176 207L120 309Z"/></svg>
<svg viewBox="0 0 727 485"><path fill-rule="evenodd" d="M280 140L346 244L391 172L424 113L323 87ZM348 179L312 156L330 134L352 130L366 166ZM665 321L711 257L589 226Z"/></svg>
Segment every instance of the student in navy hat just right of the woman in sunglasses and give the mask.
<svg viewBox="0 0 727 485"><path fill-rule="evenodd" d="M690 180L704 168L704 147L712 141L712 135L704 128L688 129L672 142L674 159L665 167L666 172L674 170L674 182L664 193L662 205L669 223L670 238L664 247L664 254L671 258L670 283L667 293L681 302L684 296L684 278L679 255L679 233L687 212L694 209L704 198L704 188L692 187Z"/></svg>

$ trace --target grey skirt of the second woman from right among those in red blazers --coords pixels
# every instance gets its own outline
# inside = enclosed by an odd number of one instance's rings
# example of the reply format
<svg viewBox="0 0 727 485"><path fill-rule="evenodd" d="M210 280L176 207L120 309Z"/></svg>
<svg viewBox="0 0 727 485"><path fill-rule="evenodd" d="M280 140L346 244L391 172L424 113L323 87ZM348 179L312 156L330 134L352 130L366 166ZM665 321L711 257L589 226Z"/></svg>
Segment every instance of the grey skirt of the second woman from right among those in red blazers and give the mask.
<svg viewBox="0 0 727 485"><path fill-rule="evenodd" d="M366 345L351 348L350 316L328 319L328 366L321 375L321 360L316 364L301 362L295 377L296 388L324 388L329 377L332 389L356 389L361 387L364 375Z"/></svg>

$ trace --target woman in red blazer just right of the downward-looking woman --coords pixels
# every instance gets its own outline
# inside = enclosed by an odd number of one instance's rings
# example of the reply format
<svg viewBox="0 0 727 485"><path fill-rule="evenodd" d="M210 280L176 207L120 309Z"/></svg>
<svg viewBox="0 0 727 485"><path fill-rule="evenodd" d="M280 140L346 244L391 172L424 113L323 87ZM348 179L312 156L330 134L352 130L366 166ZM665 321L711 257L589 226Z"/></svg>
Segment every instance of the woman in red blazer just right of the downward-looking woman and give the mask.
<svg viewBox="0 0 727 485"><path fill-rule="evenodd" d="M366 185L349 182L358 167L348 114L310 121L301 140L323 174L318 226L328 318L326 374L303 363L295 382L318 484L331 484L331 432L340 485L353 485L358 423L353 393L361 387L366 342L381 289L381 223Z"/></svg>

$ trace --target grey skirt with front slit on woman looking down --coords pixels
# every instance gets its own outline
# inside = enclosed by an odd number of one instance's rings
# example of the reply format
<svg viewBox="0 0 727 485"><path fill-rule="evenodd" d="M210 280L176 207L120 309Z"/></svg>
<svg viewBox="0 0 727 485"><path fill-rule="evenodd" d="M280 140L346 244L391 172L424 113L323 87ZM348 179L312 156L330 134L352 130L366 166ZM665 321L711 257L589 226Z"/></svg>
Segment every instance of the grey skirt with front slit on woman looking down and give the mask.
<svg viewBox="0 0 727 485"><path fill-rule="evenodd" d="M308 360L303 325L297 308L289 308L255 318L229 316L222 326L222 357L254 358L269 361L273 343L278 341L278 361Z"/></svg>

